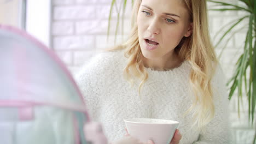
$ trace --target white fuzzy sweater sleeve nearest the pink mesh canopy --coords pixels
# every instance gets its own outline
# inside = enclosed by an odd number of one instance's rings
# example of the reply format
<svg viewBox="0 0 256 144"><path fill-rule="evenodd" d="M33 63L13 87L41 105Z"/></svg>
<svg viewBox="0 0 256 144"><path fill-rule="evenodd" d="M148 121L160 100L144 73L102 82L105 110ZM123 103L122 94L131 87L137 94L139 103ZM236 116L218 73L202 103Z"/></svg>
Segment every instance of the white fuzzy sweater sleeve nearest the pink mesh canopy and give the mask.
<svg viewBox="0 0 256 144"><path fill-rule="evenodd" d="M103 53L96 55L75 75L75 80L83 94L86 107L92 119L98 119L98 112L100 112L104 88L104 70L107 67L106 58Z"/></svg>

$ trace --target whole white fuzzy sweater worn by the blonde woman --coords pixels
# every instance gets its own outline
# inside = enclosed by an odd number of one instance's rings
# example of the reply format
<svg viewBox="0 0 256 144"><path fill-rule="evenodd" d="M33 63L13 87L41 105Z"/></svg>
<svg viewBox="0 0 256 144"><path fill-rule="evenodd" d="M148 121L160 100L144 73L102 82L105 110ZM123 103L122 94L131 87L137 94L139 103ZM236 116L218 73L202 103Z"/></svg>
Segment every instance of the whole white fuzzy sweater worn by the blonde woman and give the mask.
<svg viewBox="0 0 256 144"><path fill-rule="evenodd" d="M220 69L212 80L215 116L200 132L191 129L191 114L183 117L194 97L189 90L189 62L168 71L147 68L149 78L140 96L138 84L130 87L123 77L126 62L123 51L104 52L92 58L76 77L92 119L102 123L109 141L124 136L124 118L160 118L180 122L182 144L230 143L228 97Z"/></svg>

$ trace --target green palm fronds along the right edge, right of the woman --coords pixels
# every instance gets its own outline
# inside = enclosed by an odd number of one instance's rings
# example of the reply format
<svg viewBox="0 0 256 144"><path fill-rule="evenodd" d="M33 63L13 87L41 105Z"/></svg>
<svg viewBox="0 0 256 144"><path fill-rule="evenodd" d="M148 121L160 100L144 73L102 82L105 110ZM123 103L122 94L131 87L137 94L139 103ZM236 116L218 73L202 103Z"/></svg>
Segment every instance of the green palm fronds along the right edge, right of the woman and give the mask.
<svg viewBox="0 0 256 144"><path fill-rule="evenodd" d="M223 41L224 37L227 37L228 34L232 33L231 30L238 25L243 19L249 18L248 30L245 39L244 52L238 58L236 63L236 69L233 76L229 79L227 86L230 86L229 99L232 98L234 92L238 92L238 116L240 116L240 102L242 100L242 91L245 89L248 100L248 121L253 125L254 122L254 113L256 107L256 1L255 0L239 0L246 4L245 7L240 7L235 4L225 3L221 1L212 1L208 2L215 3L214 7L211 10L214 11L247 11L249 16L242 17L236 22L230 22L231 25L223 36L217 41L217 45ZM224 28L221 28L221 32ZM214 38L215 39L215 38ZM229 38L230 39L230 38ZM228 39L228 40L229 40ZM227 41L225 41L225 47ZM223 48L223 50L225 49ZM222 52L220 53L222 54ZM248 71L249 70L249 71ZM249 75L247 75L249 72ZM245 86L243 88L243 86ZM256 130L255 130L256 131ZM256 141L256 133L254 135L253 143Z"/></svg>

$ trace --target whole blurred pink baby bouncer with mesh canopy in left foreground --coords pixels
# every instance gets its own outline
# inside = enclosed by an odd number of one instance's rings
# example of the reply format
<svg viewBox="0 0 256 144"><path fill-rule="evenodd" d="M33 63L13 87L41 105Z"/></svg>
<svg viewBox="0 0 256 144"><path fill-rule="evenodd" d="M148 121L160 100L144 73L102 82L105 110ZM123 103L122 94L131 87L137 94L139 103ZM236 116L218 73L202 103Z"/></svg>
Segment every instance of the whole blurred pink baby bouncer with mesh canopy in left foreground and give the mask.
<svg viewBox="0 0 256 144"><path fill-rule="evenodd" d="M0 26L0 80L0 143L107 143L65 65L26 32Z"/></svg>

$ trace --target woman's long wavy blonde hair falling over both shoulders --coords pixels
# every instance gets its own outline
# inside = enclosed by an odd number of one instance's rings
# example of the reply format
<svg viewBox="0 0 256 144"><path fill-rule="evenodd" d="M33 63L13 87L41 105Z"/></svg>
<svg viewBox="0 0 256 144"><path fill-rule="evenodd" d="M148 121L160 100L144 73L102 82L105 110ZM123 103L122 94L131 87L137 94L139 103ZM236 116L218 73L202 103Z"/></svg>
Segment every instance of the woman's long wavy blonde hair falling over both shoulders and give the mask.
<svg viewBox="0 0 256 144"><path fill-rule="evenodd" d="M141 80L139 89L148 79L147 71L142 63L137 32L137 14L141 1L136 0L133 5L132 31L129 40L115 47L115 49L126 49L125 56L129 60L124 69L124 76L131 82L133 77ZM187 112L193 110L194 125L202 128L214 116L211 79L218 61L208 33L206 0L183 0L183 3L188 9L190 21L193 22L193 33L190 37L184 37L175 51L180 58L191 65L189 82L195 97L193 105Z"/></svg>

